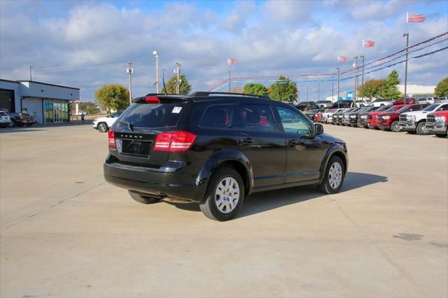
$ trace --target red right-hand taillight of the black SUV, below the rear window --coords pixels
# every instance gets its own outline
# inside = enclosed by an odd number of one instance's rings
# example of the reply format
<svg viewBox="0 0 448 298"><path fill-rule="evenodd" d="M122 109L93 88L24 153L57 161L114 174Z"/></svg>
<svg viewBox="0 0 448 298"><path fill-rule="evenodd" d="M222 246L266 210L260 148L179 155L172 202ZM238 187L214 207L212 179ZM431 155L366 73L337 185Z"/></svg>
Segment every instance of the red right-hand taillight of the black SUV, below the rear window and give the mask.
<svg viewBox="0 0 448 298"><path fill-rule="evenodd" d="M155 138L155 151L186 151L190 149L196 135L190 132L164 132Z"/></svg>

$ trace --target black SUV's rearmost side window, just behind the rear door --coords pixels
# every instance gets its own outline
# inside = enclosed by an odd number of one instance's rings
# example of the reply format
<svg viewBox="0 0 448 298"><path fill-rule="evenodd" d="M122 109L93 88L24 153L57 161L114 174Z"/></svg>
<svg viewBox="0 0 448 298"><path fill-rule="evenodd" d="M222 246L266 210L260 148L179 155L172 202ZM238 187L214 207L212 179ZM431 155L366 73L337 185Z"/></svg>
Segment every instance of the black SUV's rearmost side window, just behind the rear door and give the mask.
<svg viewBox="0 0 448 298"><path fill-rule="evenodd" d="M230 128L234 123L235 104L216 104L209 106L202 116L200 127Z"/></svg>

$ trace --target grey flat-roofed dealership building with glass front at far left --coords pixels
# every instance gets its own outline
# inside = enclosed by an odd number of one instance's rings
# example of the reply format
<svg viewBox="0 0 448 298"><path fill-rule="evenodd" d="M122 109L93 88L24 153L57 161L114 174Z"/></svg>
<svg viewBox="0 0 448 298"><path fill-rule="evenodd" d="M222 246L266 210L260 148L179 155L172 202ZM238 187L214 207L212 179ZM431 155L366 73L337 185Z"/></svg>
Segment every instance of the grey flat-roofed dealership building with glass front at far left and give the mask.
<svg viewBox="0 0 448 298"><path fill-rule="evenodd" d="M69 105L79 98L79 88L0 79L0 108L34 115L41 124L69 122Z"/></svg>

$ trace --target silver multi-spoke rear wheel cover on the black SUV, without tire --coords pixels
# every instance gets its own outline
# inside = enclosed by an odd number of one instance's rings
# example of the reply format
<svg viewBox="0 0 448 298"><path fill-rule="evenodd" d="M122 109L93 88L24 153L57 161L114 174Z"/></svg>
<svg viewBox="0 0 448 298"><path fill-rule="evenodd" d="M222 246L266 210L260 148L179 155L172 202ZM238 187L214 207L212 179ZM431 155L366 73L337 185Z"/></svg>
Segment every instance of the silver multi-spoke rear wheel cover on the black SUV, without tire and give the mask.
<svg viewBox="0 0 448 298"><path fill-rule="evenodd" d="M219 181L215 190L215 204L222 213L232 212L238 205L239 185L232 177Z"/></svg>

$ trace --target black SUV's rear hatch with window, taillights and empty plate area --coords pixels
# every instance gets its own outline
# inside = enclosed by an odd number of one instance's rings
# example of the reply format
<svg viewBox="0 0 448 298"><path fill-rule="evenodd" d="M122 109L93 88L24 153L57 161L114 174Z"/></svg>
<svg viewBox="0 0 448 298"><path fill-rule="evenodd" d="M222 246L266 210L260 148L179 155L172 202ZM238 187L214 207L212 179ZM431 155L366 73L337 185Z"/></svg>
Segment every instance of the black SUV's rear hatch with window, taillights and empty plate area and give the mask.
<svg viewBox="0 0 448 298"><path fill-rule="evenodd" d="M134 99L109 130L113 162L160 168L170 155L188 150L194 141L184 131L190 104L186 97Z"/></svg>

